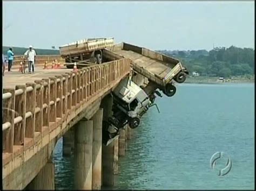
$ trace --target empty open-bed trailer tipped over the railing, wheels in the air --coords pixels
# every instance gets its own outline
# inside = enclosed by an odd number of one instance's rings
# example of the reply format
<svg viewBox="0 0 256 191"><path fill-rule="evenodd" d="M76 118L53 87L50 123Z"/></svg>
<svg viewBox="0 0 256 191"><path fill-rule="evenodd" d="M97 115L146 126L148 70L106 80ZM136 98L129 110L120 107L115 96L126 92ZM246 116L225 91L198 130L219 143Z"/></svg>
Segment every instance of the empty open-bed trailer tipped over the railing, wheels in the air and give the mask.
<svg viewBox="0 0 256 191"><path fill-rule="evenodd" d="M173 80L183 83L188 75L188 70L179 60L127 43L107 47L103 50L103 55L109 60L131 59L133 70L149 79L150 84L144 89L149 95L159 88L165 95L173 96L176 93Z"/></svg>

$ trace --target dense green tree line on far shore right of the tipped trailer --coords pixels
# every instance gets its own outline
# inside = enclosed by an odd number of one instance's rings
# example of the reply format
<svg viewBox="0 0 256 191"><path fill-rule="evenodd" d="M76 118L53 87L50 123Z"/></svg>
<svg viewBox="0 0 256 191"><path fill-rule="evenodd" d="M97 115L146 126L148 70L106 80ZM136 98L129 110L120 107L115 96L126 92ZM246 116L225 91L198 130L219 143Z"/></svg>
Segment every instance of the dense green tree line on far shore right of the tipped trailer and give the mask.
<svg viewBox="0 0 256 191"><path fill-rule="evenodd" d="M254 74L254 49L217 47L211 51L158 51L173 56L192 72L203 76L242 76Z"/></svg>

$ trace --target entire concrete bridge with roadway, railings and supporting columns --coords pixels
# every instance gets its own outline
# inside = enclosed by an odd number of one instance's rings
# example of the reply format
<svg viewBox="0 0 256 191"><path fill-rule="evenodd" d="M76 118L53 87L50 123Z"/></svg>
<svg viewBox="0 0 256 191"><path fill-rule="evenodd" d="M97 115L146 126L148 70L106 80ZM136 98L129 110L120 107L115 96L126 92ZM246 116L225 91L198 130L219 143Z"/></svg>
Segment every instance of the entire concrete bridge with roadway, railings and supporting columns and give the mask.
<svg viewBox="0 0 256 191"><path fill-rule="evenodd" d="M104 146L102 121L112 115L109 94L129 75L131 60L73 71L43 69L45 61L60 57L38 57L35 74L18 72L21 58L16 58L14 72L3 76L3 189L54 189L52 153L62 136L66 153L73 142L76 189L113 186L130 128Z"/></svg>

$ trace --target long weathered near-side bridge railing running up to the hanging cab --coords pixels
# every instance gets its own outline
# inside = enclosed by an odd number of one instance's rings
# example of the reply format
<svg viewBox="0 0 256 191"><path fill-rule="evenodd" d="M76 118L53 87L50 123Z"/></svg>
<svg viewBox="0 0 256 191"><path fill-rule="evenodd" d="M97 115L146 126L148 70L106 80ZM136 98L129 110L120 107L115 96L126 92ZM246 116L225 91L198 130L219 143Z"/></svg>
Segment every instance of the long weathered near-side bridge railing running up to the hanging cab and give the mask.
<svg viewBox="0 0 256 191"><path fill-rule="evenodd" d="M90 66L65 75L3 90L3 154L29 147L30 140L63 119L73 107L129 73L129 59ZM48 132L49 132L48 131ZM17 148L17 149L16 149ZM6 158L6 157L5 157Z"/></svg>

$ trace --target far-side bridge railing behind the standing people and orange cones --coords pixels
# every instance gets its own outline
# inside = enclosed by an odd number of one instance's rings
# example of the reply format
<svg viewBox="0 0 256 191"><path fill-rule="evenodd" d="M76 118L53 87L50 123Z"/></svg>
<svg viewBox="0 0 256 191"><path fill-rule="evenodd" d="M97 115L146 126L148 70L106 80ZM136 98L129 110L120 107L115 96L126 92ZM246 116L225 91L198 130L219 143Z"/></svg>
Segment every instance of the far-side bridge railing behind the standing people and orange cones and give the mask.
<svg viewBox="0 0 256 191"><path fill-rule="evenodd" d="M16 55L14 56L14 63L13 65L19 65L19 63L21 63L21 61L23 61L24 55ZM51 63L55 60L60 60L62 59L62 57L60 55L37 55L36 56L36 64L44 64L45 61L47 61L48 63Z"/></svg>

